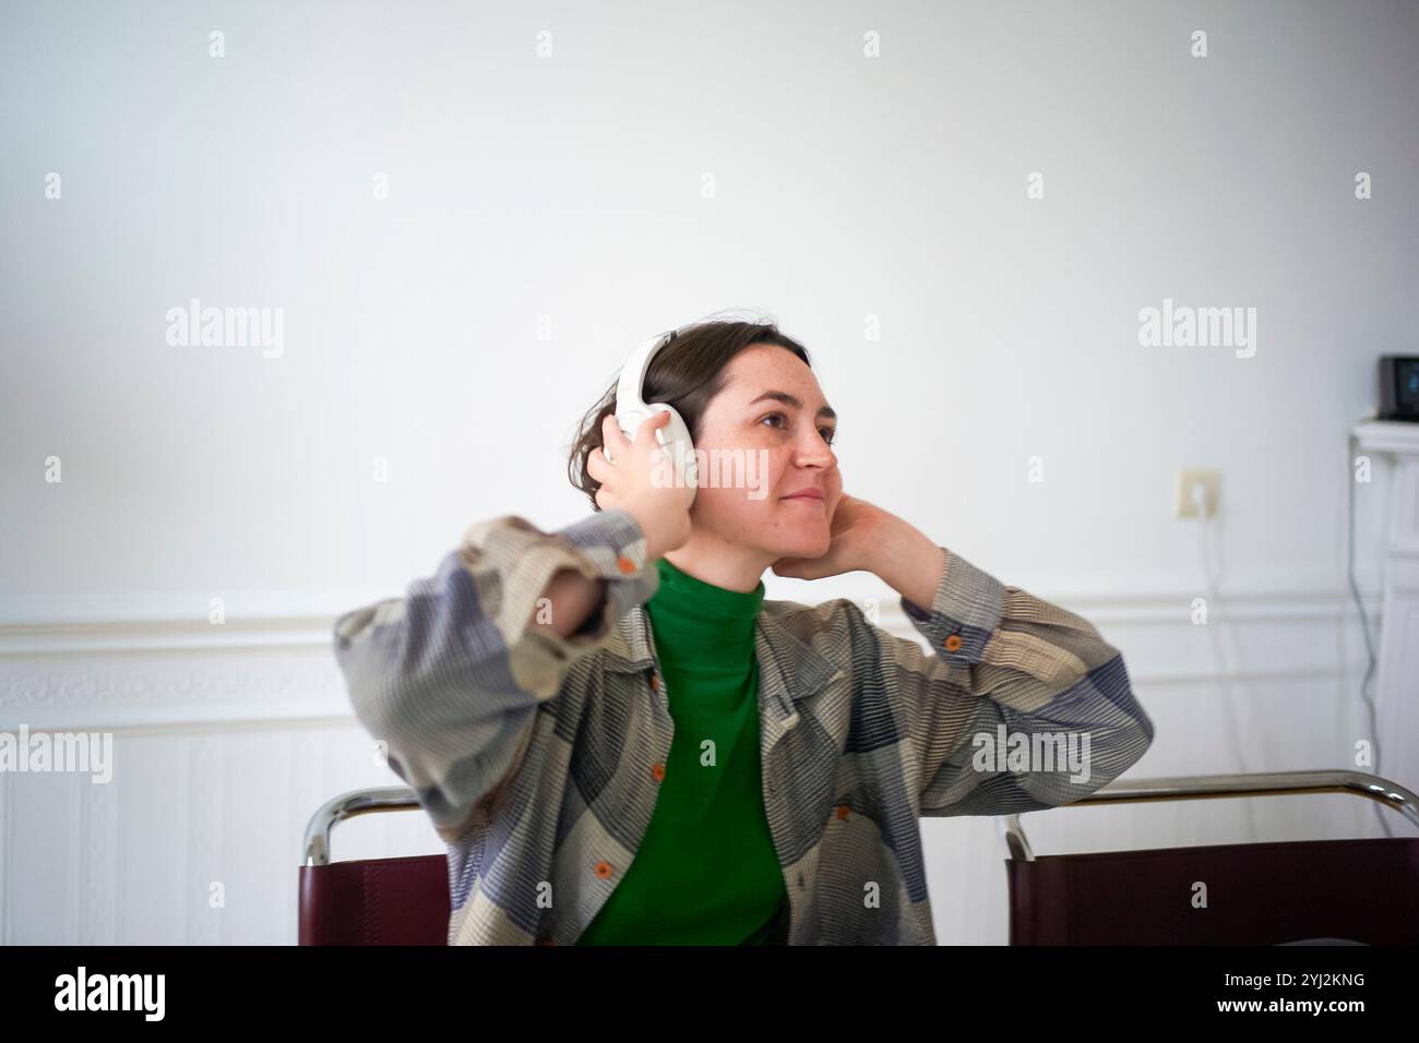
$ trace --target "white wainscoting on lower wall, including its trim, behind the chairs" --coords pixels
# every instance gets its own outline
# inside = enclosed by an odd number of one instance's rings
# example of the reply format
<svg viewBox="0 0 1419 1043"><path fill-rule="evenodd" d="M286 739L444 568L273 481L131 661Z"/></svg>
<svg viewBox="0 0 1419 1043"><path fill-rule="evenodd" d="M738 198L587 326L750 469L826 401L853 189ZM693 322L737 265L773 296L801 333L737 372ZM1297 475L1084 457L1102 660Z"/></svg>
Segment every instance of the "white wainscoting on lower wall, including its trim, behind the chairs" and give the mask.
<svg viewBox="0 0 1419 1043"><path fill-rule="evenodd" d="M864 595L884 630L920 640L895 599ZM1365 643L1345 590L1226 597L1208 626L1191 623L1195 590L1040 596L1124 653L1158 728L1131 775L1341 768L1369 735L1358 700ZM292 944L311 813L348 789L399 785L350 711L333 613L228 613L210 626L187 605L160 614L129 603L105 622L75 606L0 626L0 731L112 732L121 768L111 785L0 773L0 944ZM1365 610L1378 640L1378 597ZM1378 830L1358 800L1244 803L1056 809L1027 822L1040 853ZM938 939L1003 944L993 823L928 819L922 840ZM417 813L359 819L335 839L342 860L438 851Z"/></svg>

